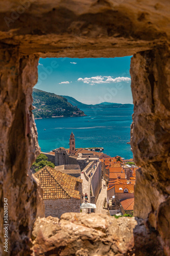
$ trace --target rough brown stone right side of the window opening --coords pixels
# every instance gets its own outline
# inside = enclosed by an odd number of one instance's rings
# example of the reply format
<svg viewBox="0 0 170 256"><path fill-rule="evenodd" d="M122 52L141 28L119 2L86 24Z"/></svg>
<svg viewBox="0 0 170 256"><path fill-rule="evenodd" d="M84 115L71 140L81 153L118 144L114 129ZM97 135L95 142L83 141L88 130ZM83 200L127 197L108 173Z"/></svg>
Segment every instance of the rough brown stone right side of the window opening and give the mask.
<svg viewBox="0 0 170 256"><path fill-rule="evenodd" d="M134 215L161 234L170 254L170 58L166 45L137 53L131 62L134 100L131 146L136 171Z"/></svg>

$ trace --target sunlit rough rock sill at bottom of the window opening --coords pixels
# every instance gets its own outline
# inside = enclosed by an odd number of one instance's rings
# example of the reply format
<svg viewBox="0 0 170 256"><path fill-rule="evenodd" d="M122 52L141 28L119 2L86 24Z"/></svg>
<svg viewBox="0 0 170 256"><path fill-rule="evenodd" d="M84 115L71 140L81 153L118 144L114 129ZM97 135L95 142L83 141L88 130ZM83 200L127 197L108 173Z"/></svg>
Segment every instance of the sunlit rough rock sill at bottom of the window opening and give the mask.
<svg viewBox="0 0 170 256"><path fill-rule="evenodd" d="M60 220L37 219L32 237L33 256L163 256L157 234L133 217L70 212Z"/></svg>

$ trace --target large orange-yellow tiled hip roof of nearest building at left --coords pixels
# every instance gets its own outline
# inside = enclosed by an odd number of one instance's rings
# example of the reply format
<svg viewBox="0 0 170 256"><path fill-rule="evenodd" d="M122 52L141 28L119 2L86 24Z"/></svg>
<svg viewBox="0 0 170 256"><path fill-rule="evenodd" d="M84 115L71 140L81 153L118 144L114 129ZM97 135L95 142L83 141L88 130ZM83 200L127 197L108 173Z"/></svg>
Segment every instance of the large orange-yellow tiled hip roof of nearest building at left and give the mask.
<svg viewBox="0 0 170 256"><path fill-rule="evenodd" d="M43 187L43 199L77 198L80 199L79 191L75 190L76 182L81 179L64 174L49 166L44 166L34 174Z"/></svg>

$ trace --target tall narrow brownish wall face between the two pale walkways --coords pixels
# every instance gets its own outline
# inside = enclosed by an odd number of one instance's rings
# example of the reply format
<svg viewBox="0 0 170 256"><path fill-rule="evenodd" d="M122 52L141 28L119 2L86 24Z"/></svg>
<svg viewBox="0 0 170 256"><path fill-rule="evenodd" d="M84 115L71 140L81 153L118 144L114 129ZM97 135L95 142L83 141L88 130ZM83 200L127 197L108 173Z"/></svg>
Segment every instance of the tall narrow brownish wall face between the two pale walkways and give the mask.
<svg viewBox="0 0 170 256"><path fill-rule="evenodd" d="M93 175L91 178L91 186L93 189L93 195L98 199L99 192L102 187L102 163L98 162L98 166L95 170L95 173L92 171Z"/></svg>

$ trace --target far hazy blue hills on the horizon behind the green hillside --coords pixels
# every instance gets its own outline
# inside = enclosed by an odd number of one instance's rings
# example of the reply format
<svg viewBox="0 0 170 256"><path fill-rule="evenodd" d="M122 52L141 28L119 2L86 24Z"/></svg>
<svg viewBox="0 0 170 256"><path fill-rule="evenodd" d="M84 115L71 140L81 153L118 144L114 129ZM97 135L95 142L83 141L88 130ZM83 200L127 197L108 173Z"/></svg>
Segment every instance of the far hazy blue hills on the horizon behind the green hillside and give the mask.
<svg viewBox="0 0 170 256"><path fill-rule="evenodd" d="M113 108L132 108L133 104L121 104L121 103L112 103L112 102L102 102L100 104L84 104L73 97L70 96L63 96L74 106L77 106L80 109L95 109L95 108L102 108L102 109L113 109Z"/></svg>

